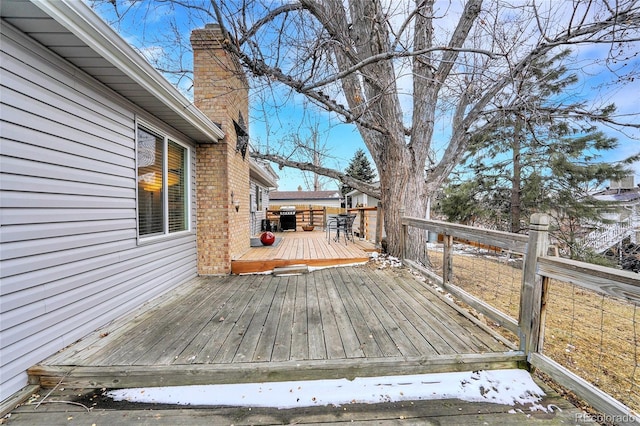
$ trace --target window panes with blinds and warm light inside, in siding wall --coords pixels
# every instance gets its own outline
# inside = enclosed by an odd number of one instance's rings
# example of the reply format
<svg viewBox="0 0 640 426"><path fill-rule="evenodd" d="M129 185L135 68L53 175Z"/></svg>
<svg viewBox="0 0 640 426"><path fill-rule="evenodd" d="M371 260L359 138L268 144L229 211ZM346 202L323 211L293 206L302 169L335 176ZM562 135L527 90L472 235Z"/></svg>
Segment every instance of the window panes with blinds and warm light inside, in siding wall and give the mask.
<svg viewBox="0 0 640 426"><path fill-rule="evenodd" d="M189 150L144 127L137 132L138 235L189 229Z"/></svg>

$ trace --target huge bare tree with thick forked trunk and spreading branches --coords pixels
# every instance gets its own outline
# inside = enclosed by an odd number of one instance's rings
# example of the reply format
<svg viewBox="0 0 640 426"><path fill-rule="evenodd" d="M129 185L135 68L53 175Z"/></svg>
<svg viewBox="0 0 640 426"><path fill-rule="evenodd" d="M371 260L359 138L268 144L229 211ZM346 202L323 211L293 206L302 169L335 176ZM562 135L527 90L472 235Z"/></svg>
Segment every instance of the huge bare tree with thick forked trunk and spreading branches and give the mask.
<svg viewBox="0 0 640 426"><path fill-rule="evenodd" d="M514 82L535 60L569 45L596 45L603 69L618 73L618 83L638 77L637 0L172 3L213 12L225 48L254 84L286 88L356 126L378 170L379 190L283 155L259 157L380 198L392 254L400 252L400 209L425 216L429 197L460 163L470 136L495 127L502 116L496 105L512 103ZM526 100L519 105L526 108ZM634 126L628 117L608 124ZM419 256L423 236L412 237L410 250Z"/></svg>

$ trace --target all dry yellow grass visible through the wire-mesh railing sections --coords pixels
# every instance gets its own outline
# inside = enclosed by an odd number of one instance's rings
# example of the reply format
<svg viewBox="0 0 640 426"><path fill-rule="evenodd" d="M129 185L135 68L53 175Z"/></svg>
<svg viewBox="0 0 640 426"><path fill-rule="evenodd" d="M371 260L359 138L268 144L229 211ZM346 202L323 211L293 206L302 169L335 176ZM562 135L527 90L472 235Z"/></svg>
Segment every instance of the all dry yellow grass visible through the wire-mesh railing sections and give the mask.
<svg viewBox="0 0 640 426"><path fill-rule="evenodd" d="M430 252L441 273L442 253ZM477 251L456 254L453 282L517 319L519 262ZM640 412L640 309L624 300L551 280L543 353Z"/></svg>

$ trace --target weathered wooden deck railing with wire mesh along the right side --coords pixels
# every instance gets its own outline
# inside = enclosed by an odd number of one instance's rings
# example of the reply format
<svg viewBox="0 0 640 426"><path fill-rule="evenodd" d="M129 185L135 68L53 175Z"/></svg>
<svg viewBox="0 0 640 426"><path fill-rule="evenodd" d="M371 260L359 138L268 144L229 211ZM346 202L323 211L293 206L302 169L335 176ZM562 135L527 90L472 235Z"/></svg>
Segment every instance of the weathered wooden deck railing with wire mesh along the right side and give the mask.
<svg viewBox="0 0 640 426"><path fill-rule="evenodd" d="M402 259L407 265L419 269L435 279L447 292L470 305L476 311L500 324L518 336L520 350L525 353L532 367L552 377L556 382L574 391L594 408L604 413L606 420L615 424L631 424L640 421L628 406L599 389L592 383L570 371L559 362L543 354L544 330L548 288L551 279L569 283L584 290L595 291L607 297L622 299L640 306L640 276L629 271L547 256L549 219L544 214L534 214L530 221L529 234L485 230L448 222L425 220L413 217L402 218L402 238L406 239L410 228L419 228L440 234L444 240L442 250L442 273L422 267L411 259ZM499 311L489 303L473 296L453 284L453 241L454 238L499 247L502 250L524 255L522 283L520 288L520 308L518 319ZM404 241L402 241L404 247ZM404 253L404 250L403 250ZM403 255L404 257L404 255ZM634 317L635 318L635 317ZM635 320L634 335L635 335ZM638 366L640 343L635 342L636 357L634 370ZM607 348L607 350L611 350ZM624 354L620 354L624 355ZM630 388L638 389L640 384L633 380ZM637 391L636 391L637 392ZM634 407L637 410L637 407Z"/></svg>

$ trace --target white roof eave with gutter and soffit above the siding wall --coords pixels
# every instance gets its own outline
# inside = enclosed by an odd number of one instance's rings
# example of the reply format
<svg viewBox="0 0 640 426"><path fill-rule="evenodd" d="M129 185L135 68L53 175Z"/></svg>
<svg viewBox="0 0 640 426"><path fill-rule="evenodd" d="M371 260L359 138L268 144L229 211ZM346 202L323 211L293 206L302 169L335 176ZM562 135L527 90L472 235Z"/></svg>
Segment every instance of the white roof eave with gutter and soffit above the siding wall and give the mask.
<svg viewBox="0 0 640 426"><path fill-rule="evenodd" d="M193 102L82 1L2 0L2 19L196 142L224 137Z"/></svg>

